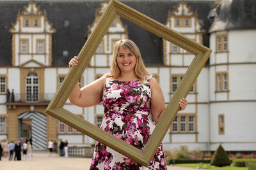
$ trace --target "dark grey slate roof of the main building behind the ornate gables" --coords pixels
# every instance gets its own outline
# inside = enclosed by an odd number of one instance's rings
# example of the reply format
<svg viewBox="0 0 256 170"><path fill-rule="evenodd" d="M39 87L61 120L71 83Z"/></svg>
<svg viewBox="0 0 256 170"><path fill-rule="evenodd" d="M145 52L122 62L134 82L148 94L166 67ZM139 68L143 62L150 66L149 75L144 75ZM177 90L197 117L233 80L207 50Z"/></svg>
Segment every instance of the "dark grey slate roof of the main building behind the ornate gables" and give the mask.
<svg viewBox="0 0 256 170"><path fill-rule="evenodd" d="M174 10L179 1L122 1L135 10L154 18L162 24L166 23L168 11ZM67 66L68 61L77 55L84 45L88 25L95 20L95 10L100 7L100 1L36 1L40 10L46 10L47 18L56 29L52 35L52 66ZM186 1L191 10L198 12L199 20L209 29L207 19L209 11L215 7L213 1ZM23 11L28 2L0 1L0 66L12 66L12 34L9 29L11 23L17 20L18 11ZM4 16L4 17L2 17ZM65 27L65 21L69 26ZM146 66L163 66L162 39L145 31L131 22L122 18L127 25L129 39L132 39L140 48ZM209 35L204 34L204 45L209 46ZM68 51L68 57L63 57L63 51Z"/></svg>

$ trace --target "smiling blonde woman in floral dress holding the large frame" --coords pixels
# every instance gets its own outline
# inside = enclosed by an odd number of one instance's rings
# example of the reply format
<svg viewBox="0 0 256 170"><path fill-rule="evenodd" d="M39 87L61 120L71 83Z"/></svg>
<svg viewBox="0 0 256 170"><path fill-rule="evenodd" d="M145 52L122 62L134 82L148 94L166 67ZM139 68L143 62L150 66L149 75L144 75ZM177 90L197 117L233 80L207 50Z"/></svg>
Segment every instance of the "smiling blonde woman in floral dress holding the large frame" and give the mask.
<svg viewBox="0 0 256 170"><path fill-rule="evenodd" d="M76 66L78 58L69 62ZM165 109L163 92L143 64L140 50L129 39L117 41L113 52L111 73L86 85L76 84L69 96L70 102L81 107L104 105L101 129L143 149ZM186 108L186 99L180 100L180 110ZM152 116L154 122L149 116ZM90 169L167 169L162 144L148 167L97 142Z"/></svg>

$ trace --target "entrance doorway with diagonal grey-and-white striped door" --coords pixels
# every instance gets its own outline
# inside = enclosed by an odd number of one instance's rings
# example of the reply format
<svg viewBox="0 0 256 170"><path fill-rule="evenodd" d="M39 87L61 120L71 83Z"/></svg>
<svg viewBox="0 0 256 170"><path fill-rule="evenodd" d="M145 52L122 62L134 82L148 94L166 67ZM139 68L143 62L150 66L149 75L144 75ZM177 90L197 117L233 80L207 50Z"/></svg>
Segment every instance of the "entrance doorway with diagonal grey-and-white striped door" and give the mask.
<svg viewBox="0 0 256 170"><path fill-rule="evenodd" d="M29 111L19 115L19 122L22 122L22 130L19 129L19 131L32 138L32 148L45 150L47 141L46 116L42 113Z"/></svg>

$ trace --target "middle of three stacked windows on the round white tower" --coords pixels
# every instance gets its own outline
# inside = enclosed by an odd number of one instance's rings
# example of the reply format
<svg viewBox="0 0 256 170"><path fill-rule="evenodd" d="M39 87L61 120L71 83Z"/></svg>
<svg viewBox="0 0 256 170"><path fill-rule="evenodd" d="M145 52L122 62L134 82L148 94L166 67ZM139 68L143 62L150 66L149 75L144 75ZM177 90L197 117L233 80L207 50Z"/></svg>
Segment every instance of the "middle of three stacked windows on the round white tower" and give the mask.
<svg viewBox="0 0 256 170"><path fill-rule="evenodd" d="M228 73L216 73L216 91L228 90Z"/></svg>

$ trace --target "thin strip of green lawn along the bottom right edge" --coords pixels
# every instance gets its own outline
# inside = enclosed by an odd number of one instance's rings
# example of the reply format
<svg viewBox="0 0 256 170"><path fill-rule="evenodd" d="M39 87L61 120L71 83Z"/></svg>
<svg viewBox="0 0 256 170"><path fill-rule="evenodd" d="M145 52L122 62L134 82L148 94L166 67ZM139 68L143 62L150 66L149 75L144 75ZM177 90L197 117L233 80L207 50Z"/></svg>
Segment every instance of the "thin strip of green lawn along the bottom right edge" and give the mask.
<svg viewBox="0 0 256 170"><path fill-rule="evenodd" d="M182 166L182 167L199 167L199 164L175 164L175 166ZM207 169L207 164L203 164L203 167L201 169ZM248 170L248 167L234 167L232 166L225 166L225 167L216 167L211 166L208 169L222 169L222 170Z"/></svg>

